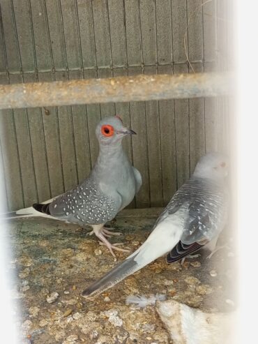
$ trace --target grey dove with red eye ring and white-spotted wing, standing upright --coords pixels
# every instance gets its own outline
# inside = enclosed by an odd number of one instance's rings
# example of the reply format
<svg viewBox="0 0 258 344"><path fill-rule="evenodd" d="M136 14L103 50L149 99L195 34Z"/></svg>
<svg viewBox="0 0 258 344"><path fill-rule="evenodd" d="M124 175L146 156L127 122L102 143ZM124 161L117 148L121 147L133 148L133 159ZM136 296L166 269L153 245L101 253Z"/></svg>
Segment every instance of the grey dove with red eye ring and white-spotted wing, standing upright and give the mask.
<svg viewBox="0 0 258 344"><path fill-rule="evenodd" d="M84 227L91 225L92 232L109 248L123 250L119 244L110 244L107 237L116 235L104 227L126 207L142 185L139 171L133 167L122 148L126 135L136 134L123 126L118 116L106 117L96 127L99 154L88 178L76 188L32 207L6 214L5 218L45 216Z"/></svg>

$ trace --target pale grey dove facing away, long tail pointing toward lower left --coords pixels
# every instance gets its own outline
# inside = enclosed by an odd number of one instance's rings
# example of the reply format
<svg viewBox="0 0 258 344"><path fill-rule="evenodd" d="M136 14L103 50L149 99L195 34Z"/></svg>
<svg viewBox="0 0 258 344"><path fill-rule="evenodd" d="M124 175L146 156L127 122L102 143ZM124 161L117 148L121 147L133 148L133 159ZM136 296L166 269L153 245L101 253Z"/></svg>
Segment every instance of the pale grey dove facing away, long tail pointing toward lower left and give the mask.
<svg viewBox="0 0 258 344"><path fill-rule="evenodd" d="M132 255L82 292L94 297L167 253L175 262L206 246L213 250L227 220L227 158L200 158L192 177L176 191L149 237Z"/></svg>

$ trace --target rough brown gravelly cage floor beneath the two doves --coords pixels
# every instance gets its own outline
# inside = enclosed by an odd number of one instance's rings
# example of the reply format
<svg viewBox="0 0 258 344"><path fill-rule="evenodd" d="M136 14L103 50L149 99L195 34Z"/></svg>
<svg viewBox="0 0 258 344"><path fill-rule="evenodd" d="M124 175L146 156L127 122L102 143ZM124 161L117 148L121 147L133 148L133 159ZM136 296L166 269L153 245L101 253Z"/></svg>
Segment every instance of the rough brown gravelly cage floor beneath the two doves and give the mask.
<svg viewBox="0 0 258 344"><path fill-rule="evenodd" d="M111 224L123 233L115 240L135 250L148 237L160 211L122 211ZM87 231L76 225L44 218L13 220L8 226L15 255L10 268L17 276L14 297L22 308L22 343L172 343L155 307L126 305L130 294L166 294L167 298L206 311L234 308L230 300L234 300L236 274L227 231L218 244L226 241L229 247L210 260L205 251L200 257L187 258L183 265L168 265L160 257L87 301L80 296L84 287L116 264L96 237L87 236ZM128 253L116 255L123 260ZM47 297L53 292L59 296L50 304Z"/></svg>

